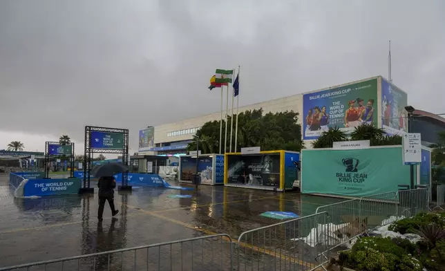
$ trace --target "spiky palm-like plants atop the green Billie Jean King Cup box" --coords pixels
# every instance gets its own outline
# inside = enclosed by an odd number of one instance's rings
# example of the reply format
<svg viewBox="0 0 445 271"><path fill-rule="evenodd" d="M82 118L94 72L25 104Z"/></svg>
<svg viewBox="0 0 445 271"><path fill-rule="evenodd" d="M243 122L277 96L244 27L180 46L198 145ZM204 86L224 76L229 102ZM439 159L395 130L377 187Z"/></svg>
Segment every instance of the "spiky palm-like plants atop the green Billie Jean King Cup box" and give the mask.
<svg viewBox="0 0 445 271"><path fill-rule="evenodd" d="M331 127L328 131L323 131L321 136L312 142L312 147L314 149L332 148L334 142L348 140L370 140L371 146L401 145L402 142L401 136L386 136L384 129L377 128L374 124L365 123L355 127L350 136L341 131L339 127Z"/></svg>

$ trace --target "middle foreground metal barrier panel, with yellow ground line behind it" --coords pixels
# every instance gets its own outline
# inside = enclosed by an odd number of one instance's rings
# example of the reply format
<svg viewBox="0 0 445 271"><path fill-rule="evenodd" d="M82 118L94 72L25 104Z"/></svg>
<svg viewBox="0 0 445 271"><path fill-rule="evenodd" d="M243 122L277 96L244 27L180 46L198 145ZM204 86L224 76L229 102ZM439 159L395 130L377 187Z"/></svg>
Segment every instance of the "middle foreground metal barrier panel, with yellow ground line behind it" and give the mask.
<svg viewBox="0 0 445 271"><path fill-rule="evenodd" d="M236 246L238 270L313 270L326 250L316 243L327 213L312 214L243 232Z"/></svg>

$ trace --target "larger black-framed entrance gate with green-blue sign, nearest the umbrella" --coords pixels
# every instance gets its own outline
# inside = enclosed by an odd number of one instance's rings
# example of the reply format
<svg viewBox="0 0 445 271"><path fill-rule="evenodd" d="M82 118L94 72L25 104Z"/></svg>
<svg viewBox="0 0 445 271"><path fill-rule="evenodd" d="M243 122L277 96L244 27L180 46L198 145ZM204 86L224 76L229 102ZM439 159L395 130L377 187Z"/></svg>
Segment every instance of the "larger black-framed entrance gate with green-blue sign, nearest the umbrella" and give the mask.
<svg viewBox="0 0 445 271"><path fill-rule="evenodd" d="M93 153L122 154L122 164L129 164L129 129L85 127L85 153L84 153L84 184L79 193L94 193L90 186L91 165ZM122 173L122 185L119 190L131 190L128 185L128 174Z"/></svg>

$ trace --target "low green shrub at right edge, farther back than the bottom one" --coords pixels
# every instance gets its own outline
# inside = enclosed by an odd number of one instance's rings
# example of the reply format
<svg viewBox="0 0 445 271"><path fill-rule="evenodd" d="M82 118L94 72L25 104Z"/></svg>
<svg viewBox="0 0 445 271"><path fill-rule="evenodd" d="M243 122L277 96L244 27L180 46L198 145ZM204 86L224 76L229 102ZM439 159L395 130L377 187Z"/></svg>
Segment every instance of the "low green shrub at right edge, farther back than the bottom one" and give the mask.
<svg viewBox="0 0 445 271"><path fill-rule="evenodd" d="M439 227L445 227L445 214L417 214L417 216L412 218L404 218L392 223L388 230L406 234L420 230L422 227L426 227L431 223L435 223L439 225Z"/></svg>

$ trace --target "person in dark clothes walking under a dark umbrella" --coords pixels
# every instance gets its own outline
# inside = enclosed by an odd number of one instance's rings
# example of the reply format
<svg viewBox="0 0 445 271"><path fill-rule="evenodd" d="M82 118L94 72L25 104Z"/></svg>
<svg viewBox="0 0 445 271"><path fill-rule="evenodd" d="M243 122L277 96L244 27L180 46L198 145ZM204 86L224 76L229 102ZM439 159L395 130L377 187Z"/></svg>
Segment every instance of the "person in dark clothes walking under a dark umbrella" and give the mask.
<svg viewBox="0 0 445 271"><path fill-rule="evenodd" d="M99 182L97 182L97 187L99 187L99 210L97 211L97 219L99 219L99 221L102 221L106 201L108 201L110 205L112 216L115 216L119 212L114 206L116 180L113 176L115 174L122 174L125 171L129 171L129 168L120 162L98 165L91 171L93 176L99 178Z"/></svg>

